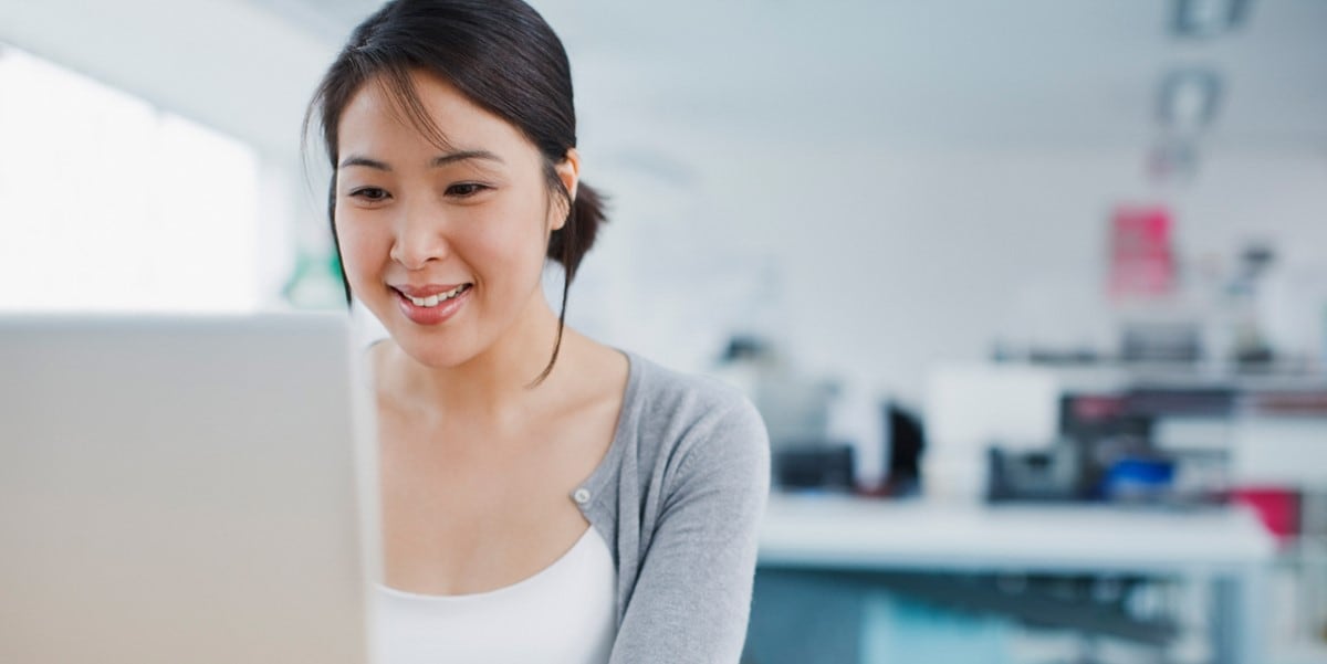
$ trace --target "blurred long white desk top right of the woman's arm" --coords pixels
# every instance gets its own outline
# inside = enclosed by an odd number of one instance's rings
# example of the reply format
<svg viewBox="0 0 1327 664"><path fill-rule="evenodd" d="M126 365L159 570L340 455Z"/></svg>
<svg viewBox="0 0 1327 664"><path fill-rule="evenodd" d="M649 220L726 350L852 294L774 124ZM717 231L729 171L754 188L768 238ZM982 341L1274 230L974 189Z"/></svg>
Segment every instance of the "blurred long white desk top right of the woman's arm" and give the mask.
<svg viewBox="0 0 1327 664"><path fill-rule="evenodd" d="M770 497L760 565L898 571L1229 574L1273 559L1241 508L941 504Z"/></svg>

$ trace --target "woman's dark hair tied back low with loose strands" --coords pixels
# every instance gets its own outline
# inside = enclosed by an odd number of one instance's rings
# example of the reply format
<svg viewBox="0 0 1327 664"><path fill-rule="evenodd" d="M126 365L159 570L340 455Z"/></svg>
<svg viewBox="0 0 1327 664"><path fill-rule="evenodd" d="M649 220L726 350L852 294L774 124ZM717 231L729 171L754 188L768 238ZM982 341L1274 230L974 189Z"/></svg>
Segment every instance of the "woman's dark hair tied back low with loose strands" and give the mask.
<svg viewBox="0 0 1327 664"><path fill-rule="evenodd" d="M580 183L572 200L553 170L553 164L576 147L576 110L567 52L539 12L520 0L393 0L385 4L350 34L304 117L304 135L308 137L311 119L317 113L333 174L341 114L354 93L374 78L381 80L425 137L439 146L447 143L419 99L410 78L413 70L447 80L470 101L520 130L544 156L549 190L567 204L567 223L553 231L548 241L548 257L560 262L564 270L563 304L552 358L532 383L539 384L557 362L572 278L605 221L600 194ZM328 191L328 221L340 257L334 176ZM341 282L346 304L350 304L350 282L344 270Z"/></svg>

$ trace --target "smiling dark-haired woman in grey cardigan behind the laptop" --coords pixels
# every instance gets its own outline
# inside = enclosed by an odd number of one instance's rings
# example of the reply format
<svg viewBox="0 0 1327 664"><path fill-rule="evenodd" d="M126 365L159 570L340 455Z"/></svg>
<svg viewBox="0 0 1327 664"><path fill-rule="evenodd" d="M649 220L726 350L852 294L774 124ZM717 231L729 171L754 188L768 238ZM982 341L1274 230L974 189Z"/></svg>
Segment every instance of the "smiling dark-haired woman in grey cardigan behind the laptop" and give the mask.
<svg viewBox="0 0 1327 664"><path fill-rule="evenodd" d="M348 297L390 334L386 661L736 661L766 432L735 392L564 326L604 215L557 36L519 0L389 3L314 114Z"/></svg>

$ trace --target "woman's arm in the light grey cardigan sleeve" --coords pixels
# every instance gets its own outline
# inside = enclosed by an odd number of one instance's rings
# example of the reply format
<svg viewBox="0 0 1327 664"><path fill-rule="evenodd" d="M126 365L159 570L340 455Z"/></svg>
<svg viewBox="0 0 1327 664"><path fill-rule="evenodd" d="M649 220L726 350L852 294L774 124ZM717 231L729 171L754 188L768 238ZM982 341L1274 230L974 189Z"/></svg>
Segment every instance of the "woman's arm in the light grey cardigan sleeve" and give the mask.
<svg viewBox="0 0 1327 664"><path fill-rule="evenodd" d="M685 436L610 664L730 664L742 655L768 435L743 399Z"/></svg>

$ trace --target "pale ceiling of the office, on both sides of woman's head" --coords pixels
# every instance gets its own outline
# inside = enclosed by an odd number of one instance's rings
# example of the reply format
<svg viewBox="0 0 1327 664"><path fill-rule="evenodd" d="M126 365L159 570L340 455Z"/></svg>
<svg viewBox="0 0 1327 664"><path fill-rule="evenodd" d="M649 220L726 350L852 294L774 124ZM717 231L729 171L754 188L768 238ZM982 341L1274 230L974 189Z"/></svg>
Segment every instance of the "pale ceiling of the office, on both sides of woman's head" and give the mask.
<svg viewBox="0 0 1327 664"><path fill-rule="evenodd" d="M1176 68L1221 81L1200 151L1327 152L1323 0L1249 0L1239 29L1206 40L1172 34L1174 0L532 1L571 54L581 146L671 178L791 150L1143 159ZM380 4L0 0L0 44L291 160L318 77Z"/></svg>

